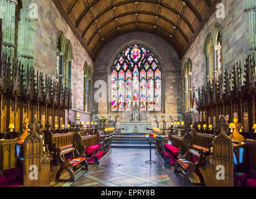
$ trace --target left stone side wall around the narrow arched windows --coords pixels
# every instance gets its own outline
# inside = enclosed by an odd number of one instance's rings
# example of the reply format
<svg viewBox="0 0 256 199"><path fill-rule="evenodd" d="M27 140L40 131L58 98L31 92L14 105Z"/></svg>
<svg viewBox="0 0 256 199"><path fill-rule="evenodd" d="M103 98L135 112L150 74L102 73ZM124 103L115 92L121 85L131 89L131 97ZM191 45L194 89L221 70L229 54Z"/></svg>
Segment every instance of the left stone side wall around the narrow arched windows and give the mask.
<svg viewBox="0 0 256 199"><path fill-rule="evenodd" d="M34 0L38 6L38 21L35 22L34 35L34 67L36 70L56 78L56 49L57 34L60 30L64 32L65 39L69 39L72 45L72 108L81 111L81 118L88 119L90 114L83 113L83 66L87 63L93 73L93 61L83 49L77 37L73 34L69 25L61 16L57 7L50 0ZM71 114L71 112L70 112ZM73 117L71 114L70 118Z"/></svg>

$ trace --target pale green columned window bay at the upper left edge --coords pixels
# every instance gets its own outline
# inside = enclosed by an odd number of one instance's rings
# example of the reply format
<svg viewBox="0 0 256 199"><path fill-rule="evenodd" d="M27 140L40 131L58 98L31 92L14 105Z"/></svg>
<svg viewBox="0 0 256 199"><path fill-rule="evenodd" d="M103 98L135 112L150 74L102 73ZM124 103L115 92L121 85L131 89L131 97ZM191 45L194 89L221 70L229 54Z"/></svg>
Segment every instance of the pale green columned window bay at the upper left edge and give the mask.
<svg viewBox="0 0 256 199"><path fill-rule="evenodd" d="M0 18L2 19L2 52L24 64L32 65L34 59L34 21L37 14L36 4L23 1L0 1ZM34 12L33 12L34 13ZM26 69L26 68L25 68Z"/></svg>

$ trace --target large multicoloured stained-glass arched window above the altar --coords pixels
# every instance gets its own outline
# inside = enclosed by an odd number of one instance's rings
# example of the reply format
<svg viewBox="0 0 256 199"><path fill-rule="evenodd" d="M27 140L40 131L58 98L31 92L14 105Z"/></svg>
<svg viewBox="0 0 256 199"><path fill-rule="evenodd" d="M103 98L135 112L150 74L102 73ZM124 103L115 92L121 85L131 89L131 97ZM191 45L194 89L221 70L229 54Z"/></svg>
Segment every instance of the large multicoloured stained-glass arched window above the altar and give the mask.
<svg viewBox="0 0 256 199"><path fill-rule="evenodd" d="M161 111L161 68L154 54L131 45L116 57L111 68L111 111Z"/></svg>

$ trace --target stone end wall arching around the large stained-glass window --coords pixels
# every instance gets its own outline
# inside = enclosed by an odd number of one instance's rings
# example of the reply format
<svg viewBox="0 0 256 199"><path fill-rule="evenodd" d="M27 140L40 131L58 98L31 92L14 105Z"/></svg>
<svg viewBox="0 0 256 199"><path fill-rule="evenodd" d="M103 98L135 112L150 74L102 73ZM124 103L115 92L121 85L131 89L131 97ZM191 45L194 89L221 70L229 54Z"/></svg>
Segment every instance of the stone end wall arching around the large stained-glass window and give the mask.
<svg viewBox="0 0 256 199"><path fill-rule="evenodd" d="M145 33L145 32L132 32L120 35L116 39L107 44L95 61L95 73L93 75L93 82L103 80L108 82L108 69L111 61L114 61L116 53L121 52L122 47L125 48L126 44L134 44L139 42L148 49L158 55L159 60L164 68L164 109L165 113L181 113L181 92L180 92L180 73L181 64L179 57L173 47L160 37ZM108 87L108 86L107 86ZM94 88L94 92L98 88ZM107 88L108 93L108 88ZM106 114L108 113L107 102L97 103L93 101L95 113Z"/></svg>

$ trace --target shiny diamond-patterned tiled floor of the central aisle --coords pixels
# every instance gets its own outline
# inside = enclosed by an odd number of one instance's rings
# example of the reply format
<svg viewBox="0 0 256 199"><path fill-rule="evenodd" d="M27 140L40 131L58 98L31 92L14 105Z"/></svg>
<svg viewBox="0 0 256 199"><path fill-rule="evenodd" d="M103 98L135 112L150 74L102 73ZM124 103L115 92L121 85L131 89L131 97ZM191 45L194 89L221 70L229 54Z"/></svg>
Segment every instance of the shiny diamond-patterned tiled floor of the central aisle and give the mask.
<svg viewBox="0 0 256 199"><path fill-rule="evenodd" d="M103 164L89 165L88 172L80 171L75 182L59 182L66 187L178 187L183 186L181 174L174 174L173 166L164 167L156 150L152 159L156 164L146 164L149 149L112 149Z"/></svg>

